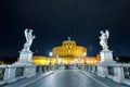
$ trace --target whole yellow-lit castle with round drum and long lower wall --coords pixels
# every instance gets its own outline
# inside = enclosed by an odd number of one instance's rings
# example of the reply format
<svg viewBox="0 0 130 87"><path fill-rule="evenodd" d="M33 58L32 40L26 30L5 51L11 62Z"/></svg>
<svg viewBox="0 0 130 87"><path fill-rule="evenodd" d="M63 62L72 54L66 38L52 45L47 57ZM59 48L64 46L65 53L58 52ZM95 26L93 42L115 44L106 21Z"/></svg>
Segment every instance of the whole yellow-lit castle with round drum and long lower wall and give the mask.
<svg viewBox="0 0 130 87"><path fill-rule="evenodd" d="M62 46L54 47L52 49L52 57L34 57L32 61L37 65L52 65L57 61L58 64L96 64L100 61L100 57L86 57L87 48L77 46L75 40L64 40ZM56 60L58 58L58 60Z"/></svg>

